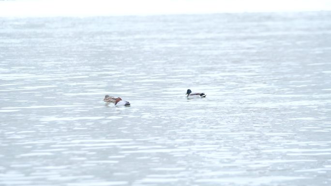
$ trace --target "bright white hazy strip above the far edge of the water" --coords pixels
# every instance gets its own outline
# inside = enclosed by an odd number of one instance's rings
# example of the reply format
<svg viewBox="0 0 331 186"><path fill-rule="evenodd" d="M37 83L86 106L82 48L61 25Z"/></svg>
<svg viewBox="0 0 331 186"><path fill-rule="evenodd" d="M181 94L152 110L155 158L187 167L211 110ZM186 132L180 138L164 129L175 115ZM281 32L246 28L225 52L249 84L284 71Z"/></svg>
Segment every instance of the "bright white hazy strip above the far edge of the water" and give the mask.
<svg viewBox="0 0 331 186"><path fill-rule="evenodd" d="M0 0L0 16L204 14L331 10L331 0Z"/></svg>

